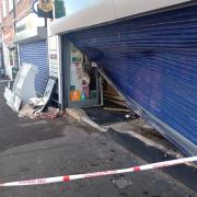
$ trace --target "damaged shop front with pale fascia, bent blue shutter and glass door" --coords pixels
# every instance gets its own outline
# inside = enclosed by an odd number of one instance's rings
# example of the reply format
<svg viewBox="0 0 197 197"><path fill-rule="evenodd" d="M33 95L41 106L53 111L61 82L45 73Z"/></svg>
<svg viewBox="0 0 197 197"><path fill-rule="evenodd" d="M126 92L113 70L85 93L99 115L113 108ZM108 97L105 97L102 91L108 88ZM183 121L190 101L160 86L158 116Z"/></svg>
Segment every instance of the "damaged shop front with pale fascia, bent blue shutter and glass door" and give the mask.
<svg viewBox="0 0 197 197"><path fill-rule="evenodd" d="M102 103L100 80L96 90L82 85L83 78L91 82L90 63L139 116L196 155L196 2L157 1L147 8L134 2L76 3L76 11L53 22L51 35L61 38L63 106Z"/></svg>

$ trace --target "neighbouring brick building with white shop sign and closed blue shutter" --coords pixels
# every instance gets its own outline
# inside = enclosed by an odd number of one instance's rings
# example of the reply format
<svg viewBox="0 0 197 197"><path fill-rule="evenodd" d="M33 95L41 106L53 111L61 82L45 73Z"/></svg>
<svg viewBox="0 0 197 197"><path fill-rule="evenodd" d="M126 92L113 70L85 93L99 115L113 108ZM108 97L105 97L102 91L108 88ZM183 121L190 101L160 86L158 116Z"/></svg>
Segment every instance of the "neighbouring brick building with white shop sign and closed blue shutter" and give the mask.
<svg viewBox="0 0 197 197"><path fill-rule="evenodd" d="M33 13L32 0L1 0L1 32L5 74L32 63L37 68L35 89L44 93L48 81L48 48L45 20Z"/></svg>

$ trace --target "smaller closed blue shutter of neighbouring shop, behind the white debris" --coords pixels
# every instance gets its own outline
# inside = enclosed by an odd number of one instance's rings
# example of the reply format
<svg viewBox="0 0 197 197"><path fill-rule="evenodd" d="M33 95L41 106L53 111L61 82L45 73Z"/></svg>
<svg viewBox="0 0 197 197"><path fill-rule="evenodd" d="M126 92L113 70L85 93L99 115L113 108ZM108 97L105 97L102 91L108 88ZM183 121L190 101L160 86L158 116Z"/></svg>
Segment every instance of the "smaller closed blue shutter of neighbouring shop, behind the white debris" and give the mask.
<svg viewBox="0 0 197 197"><path fill-rule="evenodd" d="M39 40L20 45L20 61L23 63L32 63L38 69L35 78L35 90L38 95L43 95L48 77L48 53L46 40Z"/></svg>

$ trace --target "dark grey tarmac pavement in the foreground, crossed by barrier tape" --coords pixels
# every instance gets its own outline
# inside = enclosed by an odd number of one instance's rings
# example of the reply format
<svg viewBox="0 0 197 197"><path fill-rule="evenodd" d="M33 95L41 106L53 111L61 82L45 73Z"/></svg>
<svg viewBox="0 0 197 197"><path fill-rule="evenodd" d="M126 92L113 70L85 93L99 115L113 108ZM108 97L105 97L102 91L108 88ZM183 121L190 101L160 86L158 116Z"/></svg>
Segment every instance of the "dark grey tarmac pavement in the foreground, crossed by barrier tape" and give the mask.
<svg viewBox="0 0 197 197"><path fill-rule="evenodd" d="M0 182L124 169L147 164L137 152L71 117L19 118L0 81ZM151 154L151 152L150 152ZM39 186L0 188L0 197L195 197L161 170Z"/></svg>

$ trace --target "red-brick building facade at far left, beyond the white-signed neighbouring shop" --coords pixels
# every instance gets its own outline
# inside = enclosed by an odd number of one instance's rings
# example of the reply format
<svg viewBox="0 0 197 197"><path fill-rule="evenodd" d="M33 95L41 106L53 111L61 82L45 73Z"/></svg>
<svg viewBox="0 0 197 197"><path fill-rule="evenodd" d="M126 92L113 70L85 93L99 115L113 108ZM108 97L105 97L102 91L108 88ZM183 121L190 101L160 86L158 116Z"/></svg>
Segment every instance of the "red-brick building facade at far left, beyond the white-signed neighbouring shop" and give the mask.
<svg viewBox="0 0 197 197"><path fill-rule="evenodd" d="M15 23L30 12L31 0L1 0L0 9L3 62L5 74L12 79L12 68L19 66L18 50L13 43Z"/></svg>

